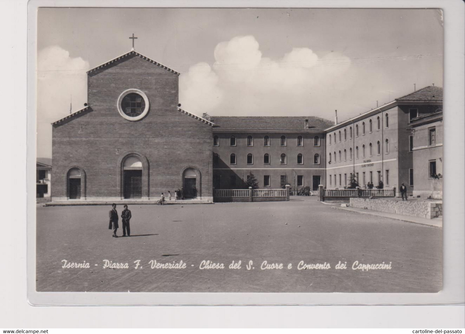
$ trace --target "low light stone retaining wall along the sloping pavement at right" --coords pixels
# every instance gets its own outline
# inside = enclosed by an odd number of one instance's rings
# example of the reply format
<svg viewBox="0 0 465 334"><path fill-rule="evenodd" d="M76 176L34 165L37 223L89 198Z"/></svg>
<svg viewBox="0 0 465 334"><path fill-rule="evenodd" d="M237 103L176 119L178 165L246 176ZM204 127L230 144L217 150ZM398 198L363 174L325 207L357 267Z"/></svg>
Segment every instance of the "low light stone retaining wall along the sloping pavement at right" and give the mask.
<svg viewBox="0 0 465 334"><path fill-rule="evenodd" d="M429 219L442 216L442 202L425 202L418 200L397 201L392 199L363 199L352 197L350 199L350 206Z"/></svg>

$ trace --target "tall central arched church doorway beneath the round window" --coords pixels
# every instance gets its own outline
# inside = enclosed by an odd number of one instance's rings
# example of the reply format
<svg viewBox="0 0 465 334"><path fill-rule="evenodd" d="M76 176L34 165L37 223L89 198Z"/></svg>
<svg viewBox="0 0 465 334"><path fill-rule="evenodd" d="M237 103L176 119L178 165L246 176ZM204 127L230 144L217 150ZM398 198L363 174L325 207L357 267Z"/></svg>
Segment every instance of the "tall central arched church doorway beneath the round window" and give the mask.
<svg viewBox="0 0 465 334"><path fill-rule="evenodd" d="M128 156L123 162L123 197L142 198L142 161L135 155Z"/></svg>

